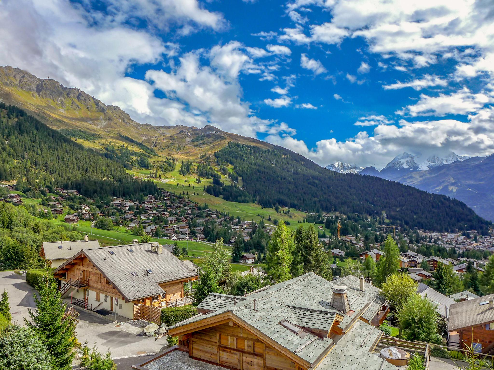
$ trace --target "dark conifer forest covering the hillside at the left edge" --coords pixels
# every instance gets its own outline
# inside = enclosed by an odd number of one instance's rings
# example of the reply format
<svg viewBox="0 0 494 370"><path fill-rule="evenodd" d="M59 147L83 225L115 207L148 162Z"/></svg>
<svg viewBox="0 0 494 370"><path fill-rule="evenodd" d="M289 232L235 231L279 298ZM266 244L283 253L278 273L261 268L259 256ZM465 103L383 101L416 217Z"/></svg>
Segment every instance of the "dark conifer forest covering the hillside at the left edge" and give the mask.
<svg viewBox="0 0 494 370"><path fill-rule="evenodd" d="M63 186L86 196L157 194L132 179L116 160L82 147L28 115L0 103L0 180L22 179L36 188Z"/></svg>

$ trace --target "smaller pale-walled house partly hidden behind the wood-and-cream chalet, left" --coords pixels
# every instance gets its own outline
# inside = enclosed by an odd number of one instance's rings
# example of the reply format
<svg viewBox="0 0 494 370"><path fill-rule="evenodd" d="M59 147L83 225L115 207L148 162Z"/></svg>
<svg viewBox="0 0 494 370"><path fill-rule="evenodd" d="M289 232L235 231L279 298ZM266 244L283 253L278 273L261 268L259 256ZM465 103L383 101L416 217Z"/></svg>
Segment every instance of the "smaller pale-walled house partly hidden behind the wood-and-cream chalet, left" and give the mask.
<svg viewBox="0 0 494 370"><path fill-rule="evenodd" d="M99 247L99 242L96 239L89 240L88 235L85 234L83 240L43 242L43 244L41 244L40 256L50 265L51 268L56 268L75 256L82 249L93 249Z"/></svg>

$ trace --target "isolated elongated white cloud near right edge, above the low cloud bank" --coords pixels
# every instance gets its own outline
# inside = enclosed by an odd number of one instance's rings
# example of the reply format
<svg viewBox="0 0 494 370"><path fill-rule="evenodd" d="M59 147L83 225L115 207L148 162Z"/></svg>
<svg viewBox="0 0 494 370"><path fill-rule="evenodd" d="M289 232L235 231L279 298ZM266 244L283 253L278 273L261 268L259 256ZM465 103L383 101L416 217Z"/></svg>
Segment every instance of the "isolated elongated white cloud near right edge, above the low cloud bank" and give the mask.
<svg viewBox="0 0 494 370"><path fill-rule="evenodd" d="M396 111L397 114L416 117L420 115L445 116L447 114L468 114L480 111L486 104L494 103L494 97L480 92L472 93L463 89L450 94L428 96L420 94L420 99L414 105L409 105Z"/></svg>

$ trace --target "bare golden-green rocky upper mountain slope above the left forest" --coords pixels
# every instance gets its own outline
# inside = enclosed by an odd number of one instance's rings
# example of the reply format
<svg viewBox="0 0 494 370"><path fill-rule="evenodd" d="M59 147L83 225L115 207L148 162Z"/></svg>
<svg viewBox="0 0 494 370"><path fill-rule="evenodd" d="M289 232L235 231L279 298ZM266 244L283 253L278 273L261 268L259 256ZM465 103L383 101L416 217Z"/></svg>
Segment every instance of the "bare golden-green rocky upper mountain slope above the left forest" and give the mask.
<svg viewBox="0 0 494 370"><path fill-rule="evenodd" d="M19 68L0 67L0 99L36 116L56 129L76 129L98 136L95 140L78 138L85 147L103 150L112 143L139 148L118 133L143 142L158 153L181 159L197 159L212 154L229 141L269 147L269 144L221 131L213 126L153 126L134 121L122 109L105 105L77 88L67 88L53 79L41 79Z"/></svg>

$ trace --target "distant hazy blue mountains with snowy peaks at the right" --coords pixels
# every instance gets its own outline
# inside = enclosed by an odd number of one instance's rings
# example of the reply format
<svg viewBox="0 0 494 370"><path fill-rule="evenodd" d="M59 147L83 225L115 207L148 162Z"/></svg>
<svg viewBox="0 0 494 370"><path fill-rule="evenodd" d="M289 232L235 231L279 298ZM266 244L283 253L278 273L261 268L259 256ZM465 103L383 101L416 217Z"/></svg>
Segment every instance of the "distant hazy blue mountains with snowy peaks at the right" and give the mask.
<svg viewBox="0 0 494 370"><path fill-rule="evenodd" d="M354 166L341 163L331 169L343 172ZM494 221L494 154L469 158L453 152L444 156L404 152L381 171L368 166L357 173L397 181L429 193L448 195L466 203L479 216Z"/></svg>

